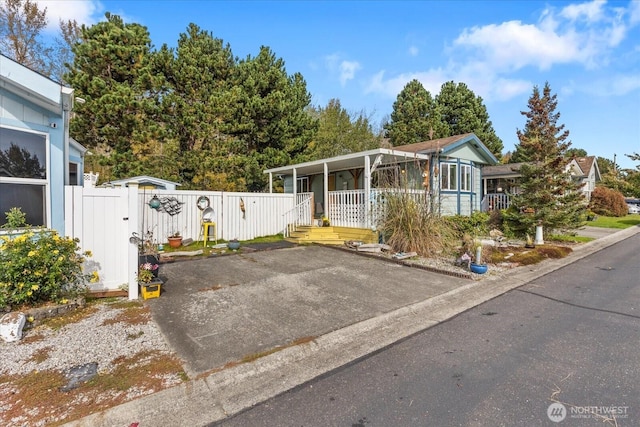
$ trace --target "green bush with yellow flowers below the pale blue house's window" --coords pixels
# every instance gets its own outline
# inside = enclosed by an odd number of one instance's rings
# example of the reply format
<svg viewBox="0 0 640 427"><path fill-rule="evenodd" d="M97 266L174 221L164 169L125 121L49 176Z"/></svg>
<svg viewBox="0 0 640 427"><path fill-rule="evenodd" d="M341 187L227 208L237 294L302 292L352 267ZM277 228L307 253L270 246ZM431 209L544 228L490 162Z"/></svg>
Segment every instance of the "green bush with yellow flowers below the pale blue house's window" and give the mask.
<svg viewBox="0 0 640 427"><path fill-rule="evenodd" d="M80 253L78 239L60 237L54 230L0 236L0 307L62 302L99 280L85 274L91 253Z"/></svg>

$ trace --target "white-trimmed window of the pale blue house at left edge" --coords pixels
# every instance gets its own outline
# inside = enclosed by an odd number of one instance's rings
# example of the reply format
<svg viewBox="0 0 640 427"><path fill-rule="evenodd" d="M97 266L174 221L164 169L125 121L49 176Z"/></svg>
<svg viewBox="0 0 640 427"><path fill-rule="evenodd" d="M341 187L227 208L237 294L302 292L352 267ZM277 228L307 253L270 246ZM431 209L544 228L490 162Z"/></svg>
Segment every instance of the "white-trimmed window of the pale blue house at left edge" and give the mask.
<svg viewBox="0 0 640 427"><path fill-rule="evenodd" d="M27 224L46 226L47 176L47 135L0 127L0 212L19 207Z"/></svg>

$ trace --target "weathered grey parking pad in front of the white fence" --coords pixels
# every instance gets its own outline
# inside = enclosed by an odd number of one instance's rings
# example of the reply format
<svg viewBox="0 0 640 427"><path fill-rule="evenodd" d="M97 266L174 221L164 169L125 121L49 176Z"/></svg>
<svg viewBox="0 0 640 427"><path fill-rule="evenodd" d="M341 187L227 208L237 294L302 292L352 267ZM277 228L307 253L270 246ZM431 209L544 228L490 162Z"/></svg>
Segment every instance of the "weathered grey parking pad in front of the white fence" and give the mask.
<svg viewBox="0 0 640 427"><path fill-rule="evenodd" d="M154 320L191 377L468 283L322 246L163 264Z"/></svg>

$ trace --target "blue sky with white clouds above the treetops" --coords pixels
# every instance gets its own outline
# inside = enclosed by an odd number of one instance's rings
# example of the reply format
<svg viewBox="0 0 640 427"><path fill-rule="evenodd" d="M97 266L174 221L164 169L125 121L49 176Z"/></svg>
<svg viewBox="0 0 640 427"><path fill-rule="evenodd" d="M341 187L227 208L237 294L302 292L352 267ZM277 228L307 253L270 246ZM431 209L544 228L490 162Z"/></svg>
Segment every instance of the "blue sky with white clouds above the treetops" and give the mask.
<svg viewBox="0 0 640 427"><path fill-rule="evenodd" d="M483 98L505 151L533 86L549 82L573 147L634 167L640 152L640 1L38 0L92 24L105 12L146 26L156 48L191 22L235 56L269 46L300 72L314 105L332 98L374 123L412 79L436 95L464 82Z"/></svg>

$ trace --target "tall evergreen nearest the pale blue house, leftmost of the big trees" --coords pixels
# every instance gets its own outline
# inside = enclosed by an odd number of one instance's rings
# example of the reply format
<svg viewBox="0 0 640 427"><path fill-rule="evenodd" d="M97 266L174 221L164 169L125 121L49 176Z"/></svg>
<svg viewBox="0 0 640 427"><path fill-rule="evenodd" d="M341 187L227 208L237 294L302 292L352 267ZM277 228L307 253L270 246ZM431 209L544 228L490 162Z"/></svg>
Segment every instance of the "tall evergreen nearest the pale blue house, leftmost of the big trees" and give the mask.
<svg viewBox="0 0 640 427"><path fill-rule="evenodd" d="M112 178L140 173L136 150L148 150L159 131L157 99L146 27L106 21L82 26L73 46L73 66L65 80L86 103L75 107L71 136L94 148L110 165Z"/></svg>

